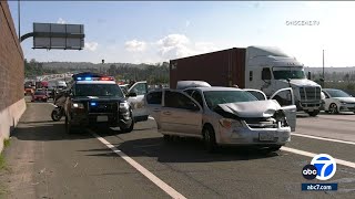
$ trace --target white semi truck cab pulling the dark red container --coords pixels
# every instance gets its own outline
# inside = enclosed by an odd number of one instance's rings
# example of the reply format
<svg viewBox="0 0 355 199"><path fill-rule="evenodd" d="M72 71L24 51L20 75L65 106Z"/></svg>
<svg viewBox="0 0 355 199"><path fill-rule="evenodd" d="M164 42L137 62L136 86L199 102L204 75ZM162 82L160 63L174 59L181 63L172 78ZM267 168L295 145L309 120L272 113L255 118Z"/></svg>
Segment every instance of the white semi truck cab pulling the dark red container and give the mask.
<svg viewBox="0 0 355 199"><path fill-rule="evenodd" d="M245 61L245 87L258 88L267 96L292 87L297 111L316 116L321 108L321 85L307 80L304 65L277 48L248 46Z"/></svg>

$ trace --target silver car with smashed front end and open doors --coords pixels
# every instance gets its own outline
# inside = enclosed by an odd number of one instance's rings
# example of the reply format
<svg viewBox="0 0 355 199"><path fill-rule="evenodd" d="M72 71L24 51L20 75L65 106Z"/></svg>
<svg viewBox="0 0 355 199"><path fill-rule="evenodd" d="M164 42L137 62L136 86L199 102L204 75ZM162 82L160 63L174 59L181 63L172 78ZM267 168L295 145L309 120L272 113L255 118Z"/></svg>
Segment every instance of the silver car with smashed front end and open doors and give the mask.
<svg viewBox="0 0 355 199"><path fill-rule="evenodd" d="M196 137L209 151L219 145L254 145L278 150L295 130L292 88L271 100L257 90L191 87L160 90L145 95L149 113L165 139Z"/></svg>

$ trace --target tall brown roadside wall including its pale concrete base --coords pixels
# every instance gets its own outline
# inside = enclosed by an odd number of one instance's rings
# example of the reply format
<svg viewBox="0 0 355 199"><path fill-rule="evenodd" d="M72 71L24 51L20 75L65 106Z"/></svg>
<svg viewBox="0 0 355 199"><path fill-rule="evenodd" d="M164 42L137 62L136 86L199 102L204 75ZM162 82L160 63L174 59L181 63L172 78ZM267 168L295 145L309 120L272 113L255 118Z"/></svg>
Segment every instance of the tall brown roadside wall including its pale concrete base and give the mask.
<svg viewBox="0 0 355 199"><path fill-rule="evenodd" d="M26 108L23 80L23 52L9 4L0 0L0 153Z"/></svg>

